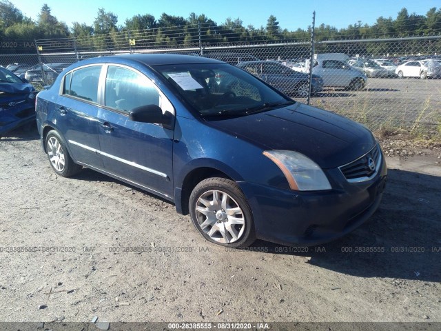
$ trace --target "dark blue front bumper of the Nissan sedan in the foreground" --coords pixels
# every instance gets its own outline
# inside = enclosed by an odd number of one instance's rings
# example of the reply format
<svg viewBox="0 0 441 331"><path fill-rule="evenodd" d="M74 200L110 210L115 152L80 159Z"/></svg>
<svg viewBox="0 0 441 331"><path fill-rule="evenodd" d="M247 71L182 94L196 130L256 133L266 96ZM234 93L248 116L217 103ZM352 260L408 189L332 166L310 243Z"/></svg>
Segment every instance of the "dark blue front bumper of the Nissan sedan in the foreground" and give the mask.
<svg viewBox="0 0 441 331"><path fill-rule="evenodd" d="M294 192L240 183L252 208L257 237L282 245L318 245L342 237L367 221L382 199L387 178L384 158L378 174L369 181L349 183L338 169L328 174L339 184L327 192Z"/></svg>

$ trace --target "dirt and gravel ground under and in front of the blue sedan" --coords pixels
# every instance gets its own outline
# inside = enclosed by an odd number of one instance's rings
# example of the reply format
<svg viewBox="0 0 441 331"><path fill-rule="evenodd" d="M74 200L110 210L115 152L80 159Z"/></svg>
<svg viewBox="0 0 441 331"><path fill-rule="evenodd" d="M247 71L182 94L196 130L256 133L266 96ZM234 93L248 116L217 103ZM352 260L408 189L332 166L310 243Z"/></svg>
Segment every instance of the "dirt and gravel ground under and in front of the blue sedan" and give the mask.
<svg viewBox="0 0 441 331"><path fill-rule="evenodd" d="M17 130L0 139L0 321L440 322L441 152L424 153L387 159L380 209L343 239L227 251L170 203L57 177Z"/></svg>

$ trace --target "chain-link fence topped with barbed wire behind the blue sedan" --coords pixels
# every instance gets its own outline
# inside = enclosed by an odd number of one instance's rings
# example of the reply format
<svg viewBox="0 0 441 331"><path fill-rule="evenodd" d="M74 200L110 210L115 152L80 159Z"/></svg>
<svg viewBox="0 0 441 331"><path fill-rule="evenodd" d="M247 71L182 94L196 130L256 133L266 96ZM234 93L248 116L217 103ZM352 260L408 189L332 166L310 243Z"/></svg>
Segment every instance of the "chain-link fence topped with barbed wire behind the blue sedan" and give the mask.
<svg viewBox="0 0 441 331"><path fill-rule="evenodd" d="M440 136L441 33L349 40L329 40L316 34L312 42L315 51L311 61L311 35L305 32L269 39L261 30L218 28L206 23L37 40L37 55L26 60L2 56L1 61L40 61L38 72L25 78L48 85L70 63L90 57L129 53L210 57L255 74L293 99L343 114L371 130L400 128Z"/></svg>

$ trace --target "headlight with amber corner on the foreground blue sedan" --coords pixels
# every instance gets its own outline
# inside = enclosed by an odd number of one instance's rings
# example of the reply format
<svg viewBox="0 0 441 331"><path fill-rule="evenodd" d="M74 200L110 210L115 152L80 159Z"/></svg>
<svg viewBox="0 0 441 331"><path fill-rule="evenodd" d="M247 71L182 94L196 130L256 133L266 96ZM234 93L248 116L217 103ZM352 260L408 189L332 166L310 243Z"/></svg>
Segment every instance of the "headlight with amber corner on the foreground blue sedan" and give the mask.
<svg viewBox="0 0 441 331"><path fill-rule="evenodd" d="M267 150L263 154L282 170L291 190L331 190L325 173L309 157L291 150Z"/></svg>

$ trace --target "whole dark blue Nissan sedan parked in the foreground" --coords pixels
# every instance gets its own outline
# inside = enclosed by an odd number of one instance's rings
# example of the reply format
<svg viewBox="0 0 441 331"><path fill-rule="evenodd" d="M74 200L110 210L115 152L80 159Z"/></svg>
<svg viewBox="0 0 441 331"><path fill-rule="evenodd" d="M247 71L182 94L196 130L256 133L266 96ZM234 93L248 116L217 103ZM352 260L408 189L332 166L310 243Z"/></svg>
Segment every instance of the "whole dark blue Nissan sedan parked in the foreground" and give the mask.
<svg viewBox="0 0 441 331"><path fill-rule="evenodd" d="M341 237L376 211L387 177L365 126L214 59L80 61L38 94L36 108L54 172L87 167L130 183L232 248Z"/></svg>

